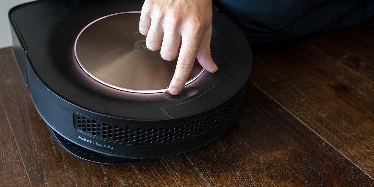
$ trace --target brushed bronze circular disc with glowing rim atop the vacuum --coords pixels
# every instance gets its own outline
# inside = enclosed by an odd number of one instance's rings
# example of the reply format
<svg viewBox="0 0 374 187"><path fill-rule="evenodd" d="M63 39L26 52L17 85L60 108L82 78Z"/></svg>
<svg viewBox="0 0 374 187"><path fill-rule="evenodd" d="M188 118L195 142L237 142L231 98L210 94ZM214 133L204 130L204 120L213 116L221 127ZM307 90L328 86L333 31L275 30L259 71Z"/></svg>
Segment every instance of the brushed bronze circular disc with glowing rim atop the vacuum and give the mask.
<svg viewBox="0 0 374 187"><path fill-rule="evenodd" d="M140 12L116 13L88 24L75 42L75 56L82 69L111 88L136 92L166 92L177 60L166 61L160 50L151 51L139 33ZM204 69L197 60L188 83Z"/></svg>

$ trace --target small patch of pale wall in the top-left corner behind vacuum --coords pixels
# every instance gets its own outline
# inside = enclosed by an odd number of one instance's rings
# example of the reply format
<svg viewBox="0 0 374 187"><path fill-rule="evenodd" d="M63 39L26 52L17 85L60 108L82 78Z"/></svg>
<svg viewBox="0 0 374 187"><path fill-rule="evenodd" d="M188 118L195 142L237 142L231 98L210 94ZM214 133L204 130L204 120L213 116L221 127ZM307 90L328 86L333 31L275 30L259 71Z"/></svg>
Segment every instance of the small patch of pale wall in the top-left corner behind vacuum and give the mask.
<svg viewBox="0 0 374 187"><path fill-rule="evenodd" d="M0 0L0 48L12 45L8 11L11 7L30 0Z"/></svg>

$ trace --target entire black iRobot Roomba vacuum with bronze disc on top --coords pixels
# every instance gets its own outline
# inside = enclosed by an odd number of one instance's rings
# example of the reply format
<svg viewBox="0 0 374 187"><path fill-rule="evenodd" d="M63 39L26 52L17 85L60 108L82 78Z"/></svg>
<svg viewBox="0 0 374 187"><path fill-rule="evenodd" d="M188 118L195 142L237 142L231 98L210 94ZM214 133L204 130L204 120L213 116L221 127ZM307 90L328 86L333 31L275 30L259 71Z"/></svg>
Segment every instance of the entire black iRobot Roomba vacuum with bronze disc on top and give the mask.
<svg viewBox="0 0 374 187"><path fill-rule="evenodd" d="M121 165L172 156L233 124L252 65L245 36L213 11L216 73L196 61L183 91L168 93L176 61L150 51L138 0L42 0L13 7L13 53L56 143L90 162Z"/></svg>

